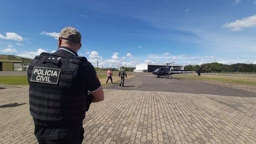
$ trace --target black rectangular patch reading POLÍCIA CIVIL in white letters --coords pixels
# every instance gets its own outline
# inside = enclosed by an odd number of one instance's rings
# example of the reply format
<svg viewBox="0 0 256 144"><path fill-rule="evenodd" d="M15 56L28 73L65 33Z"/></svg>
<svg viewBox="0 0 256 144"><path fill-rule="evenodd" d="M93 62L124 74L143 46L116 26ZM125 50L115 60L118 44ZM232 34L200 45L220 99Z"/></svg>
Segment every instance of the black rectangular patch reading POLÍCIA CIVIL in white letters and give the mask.
<svg viewBox="0 0 256 144"><path fill-rule="evenodd" d="M59 76L60 69L34 67L30 81L47 84L57 84Z"/></svg>

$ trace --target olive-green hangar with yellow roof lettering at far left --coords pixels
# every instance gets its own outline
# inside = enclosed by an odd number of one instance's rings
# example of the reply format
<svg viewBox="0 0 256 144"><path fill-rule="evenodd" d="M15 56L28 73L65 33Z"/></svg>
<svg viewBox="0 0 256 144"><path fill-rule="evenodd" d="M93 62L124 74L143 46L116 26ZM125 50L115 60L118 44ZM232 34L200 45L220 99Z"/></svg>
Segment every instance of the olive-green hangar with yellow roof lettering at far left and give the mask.
<svg viewBox="0 0 256 144"><path fill-rule="evenodd" d="M15 55L0 55L0 71L22 71L27 70L33 59L23 58Z"/></svg>

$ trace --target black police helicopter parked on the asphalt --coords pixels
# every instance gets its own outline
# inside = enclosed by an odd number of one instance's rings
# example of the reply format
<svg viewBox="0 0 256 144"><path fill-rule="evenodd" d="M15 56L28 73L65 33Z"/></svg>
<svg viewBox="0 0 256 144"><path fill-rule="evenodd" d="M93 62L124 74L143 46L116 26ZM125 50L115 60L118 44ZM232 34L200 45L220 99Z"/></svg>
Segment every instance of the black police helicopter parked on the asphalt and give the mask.
<svg viewBox="0 0 256 144"><path fill-rule="evenodd" d="M175 63L175 62L172 62ZM201 67L197 70L197 71L187 71L187 70L177 70L177 68L173 68L173 67L169 67L168 65L172 64L172 63L166 63L164 65L166 65L165 67L162 68L156 68L154 71L152 71L153 75L156 75L158 78L161 77L167 77L169 78L169 76L173 74L183 74L183 73L197 73L198 76L201 75L201 70L204 67L204 65L201 65Z"/></svg>

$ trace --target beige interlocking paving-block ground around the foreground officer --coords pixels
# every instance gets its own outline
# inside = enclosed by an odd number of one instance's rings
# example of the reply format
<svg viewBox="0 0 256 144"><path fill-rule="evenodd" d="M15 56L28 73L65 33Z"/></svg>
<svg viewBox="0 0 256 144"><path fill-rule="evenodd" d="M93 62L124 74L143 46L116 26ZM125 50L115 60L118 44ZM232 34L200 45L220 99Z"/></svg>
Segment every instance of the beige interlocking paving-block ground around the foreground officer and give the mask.
<svg viewBox="0 0 256 144"><path fill-rule="evenodd" d="M28 86L0 85L0 92L0 143L36 143ZM256 142L256 98L104 92L86 114L83 143Z"/></svg>

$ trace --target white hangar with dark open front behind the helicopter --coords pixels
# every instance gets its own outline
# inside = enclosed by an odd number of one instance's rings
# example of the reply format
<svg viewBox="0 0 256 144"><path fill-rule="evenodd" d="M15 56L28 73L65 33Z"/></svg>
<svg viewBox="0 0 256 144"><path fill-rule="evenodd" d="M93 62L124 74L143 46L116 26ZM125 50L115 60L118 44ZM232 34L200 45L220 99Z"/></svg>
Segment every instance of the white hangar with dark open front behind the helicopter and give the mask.
<svg viewBox="0 0 256 144"><path fill-rule="evenodd" d="M134 69L133 72L152 72L156 68L165 67L165 66L166 66L165 63L140 64L140 65L136 65L136 69ZM184 70L184 65L170 64L168 66L177 68L178 70Z"/></svg>

